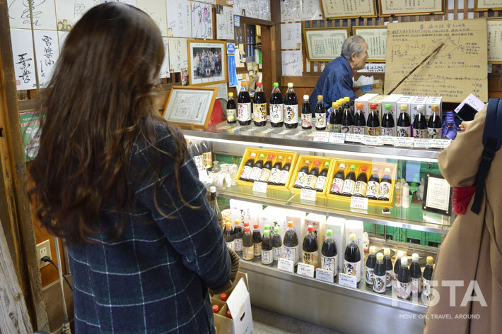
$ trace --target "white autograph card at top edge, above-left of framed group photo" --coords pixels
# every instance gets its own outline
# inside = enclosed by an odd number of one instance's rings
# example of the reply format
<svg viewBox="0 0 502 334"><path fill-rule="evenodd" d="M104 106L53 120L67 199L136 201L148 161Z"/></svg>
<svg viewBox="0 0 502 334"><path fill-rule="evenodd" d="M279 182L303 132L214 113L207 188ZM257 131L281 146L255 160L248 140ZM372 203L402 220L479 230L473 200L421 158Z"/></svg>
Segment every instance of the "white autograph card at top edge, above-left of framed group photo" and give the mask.
<svg viewBox="0 0 502 334"><path fill-rule="evenodd" d="M189 0L169 0L168 37L192 37Z"/></svg>

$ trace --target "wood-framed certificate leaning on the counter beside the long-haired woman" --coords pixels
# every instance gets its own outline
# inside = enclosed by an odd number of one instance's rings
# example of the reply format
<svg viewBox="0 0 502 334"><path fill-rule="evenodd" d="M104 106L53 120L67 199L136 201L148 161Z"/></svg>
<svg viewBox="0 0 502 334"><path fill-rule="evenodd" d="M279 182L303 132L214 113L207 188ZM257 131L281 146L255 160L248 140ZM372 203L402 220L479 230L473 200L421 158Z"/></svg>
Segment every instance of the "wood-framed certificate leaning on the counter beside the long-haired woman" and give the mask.
<svg viewBox="0 0 502 334"><path fill-rule="evenodd" d="M180 128L206 130L217 93L217 87L173 86L162 117Z"/></svg>

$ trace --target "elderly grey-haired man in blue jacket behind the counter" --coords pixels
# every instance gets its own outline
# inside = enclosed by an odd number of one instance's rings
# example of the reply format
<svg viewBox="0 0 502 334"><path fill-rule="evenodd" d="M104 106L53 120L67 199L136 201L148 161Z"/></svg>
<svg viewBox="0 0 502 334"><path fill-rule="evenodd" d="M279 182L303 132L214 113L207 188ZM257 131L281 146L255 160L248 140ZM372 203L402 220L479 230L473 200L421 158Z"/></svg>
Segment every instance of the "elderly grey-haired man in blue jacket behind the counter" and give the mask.
<svg viewBox="0 0 502 334"><path fill-rule="evenodd" d="M309 102L313 117L317 95L322 95L325 107L331 107L332 102L342 97L354 98L352 78L356 71L366 64L367 50L368 44L361 36L354 35L345 40L340 56L327 63L310 95Z"/></svg>

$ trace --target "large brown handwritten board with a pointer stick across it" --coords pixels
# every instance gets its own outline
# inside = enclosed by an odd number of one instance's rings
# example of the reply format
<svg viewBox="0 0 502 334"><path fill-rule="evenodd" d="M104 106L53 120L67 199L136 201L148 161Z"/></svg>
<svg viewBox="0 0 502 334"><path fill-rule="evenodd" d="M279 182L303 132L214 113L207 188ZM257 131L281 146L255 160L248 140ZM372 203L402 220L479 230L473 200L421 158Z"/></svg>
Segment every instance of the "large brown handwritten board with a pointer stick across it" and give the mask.
<svg viewBox="0 0 502 334"><path fill-rule="evenodd" d="M389 23L387 29L385 94L444 43L394 93L442 96L443 102L457 103L473 93L488 100L485 19Z"/></svg>

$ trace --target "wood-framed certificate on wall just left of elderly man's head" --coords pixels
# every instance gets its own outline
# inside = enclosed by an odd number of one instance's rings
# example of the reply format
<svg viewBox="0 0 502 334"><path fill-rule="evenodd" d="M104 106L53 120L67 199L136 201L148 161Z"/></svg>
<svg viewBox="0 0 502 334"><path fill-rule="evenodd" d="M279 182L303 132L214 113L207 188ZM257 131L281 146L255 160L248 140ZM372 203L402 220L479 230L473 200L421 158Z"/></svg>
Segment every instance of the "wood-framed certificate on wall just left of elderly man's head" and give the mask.
<svg viewBox="0 0 502 334"><path fill-rule="evenodd" d="M342 39L338 39L338 42L335 41L334 44L339 44L339 50L337 52L336 49L332 49L332 52L324 52L324 54L320 54L319 52L315 52L315 45L320 43L327 43L330 40L330 35L332 36L331 40L333 40L335 32L342 32ZM344 32L344 34L343 34ZM337 33L337 35L340 35ZM303 29L303 39L305 40L305 53L307 54L308 61L332 61L333 59L340 56L340 52L342 50L342 44L344 41L350 36L350 30L348 27L336 27L336 28L307 28ZM315 38L315 41L313 39ZM319 45L320 48L328 49L328 45Z"/></svg>

